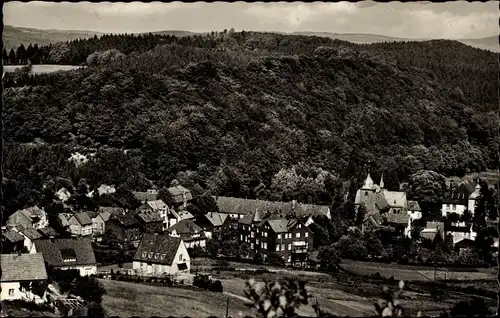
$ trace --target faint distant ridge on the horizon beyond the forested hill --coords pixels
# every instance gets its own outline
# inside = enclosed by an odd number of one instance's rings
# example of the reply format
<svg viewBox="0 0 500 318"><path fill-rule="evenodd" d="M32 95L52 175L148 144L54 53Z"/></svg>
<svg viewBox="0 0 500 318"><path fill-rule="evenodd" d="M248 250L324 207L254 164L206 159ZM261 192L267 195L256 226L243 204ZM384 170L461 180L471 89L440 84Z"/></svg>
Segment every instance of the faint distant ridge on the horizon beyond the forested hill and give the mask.
<svg viewBox="0 0 500 318"><path fill-rule="evenodd" d="M162 35L175 35L178 37L191 36L196 34L207 34L209 32L197 33L184 30L165 30L165 31L152 31L152 32L133 32L132 34L162 34ZM381 42L421 42L432 39L412 39L412 38L399 38L391 37L380 34L370 33L333 33L333 32L312 32L312 31L298 31L298 32L274 32L276 34L291 34L291 35L304 35L304 36L319 36L331 39L338 39L358 44L372 44ZM38 43L38 45L47 45L50 43L71 41L80 38L90 38L94 35L101 36L109 34L105 32L85 31L85 30L57 30L57 29L34 29L25 27L15 27L11 25L4 26L3 40L6 49L10 50L19 46L21 43L29 45L30 43ZM498 44L498 36L490 36L479 39L457 39L466 45L490 50L493 52L500 52L500 45Z"/></svg>

